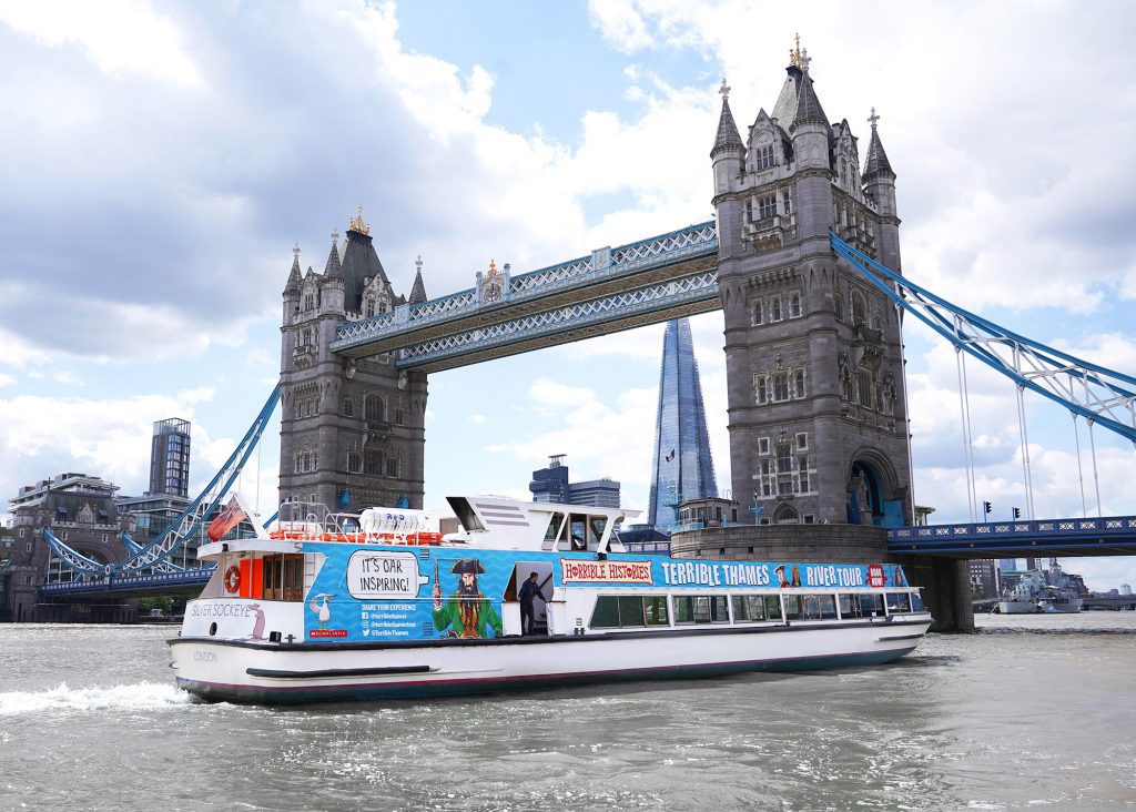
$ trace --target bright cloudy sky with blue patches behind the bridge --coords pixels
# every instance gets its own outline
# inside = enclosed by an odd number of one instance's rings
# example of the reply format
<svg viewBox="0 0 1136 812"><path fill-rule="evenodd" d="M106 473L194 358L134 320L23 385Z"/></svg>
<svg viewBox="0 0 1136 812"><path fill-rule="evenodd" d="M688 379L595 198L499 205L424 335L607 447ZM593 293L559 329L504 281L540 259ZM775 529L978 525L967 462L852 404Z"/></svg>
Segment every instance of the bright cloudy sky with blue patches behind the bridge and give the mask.
<svg viewBox="0 0 1136 812"><path fill-rule="evenodd" d="M292 260L364 206L429 295L705 219L722 75L771 109L800 32L825 110L899 174L904 271L1136 371L1136 9L1126 2L159 3L0 0L0 494L65 470L147 486L151 425L193 478L278 370ZM1128 56L1125 56L1128 55ZM721 318L693 321L729 482ZM431 378L427 503L527 493L546 455L645 508L662 327ZM916 495L968 518L954 353L908 335ZM1025 507L1009 382L970 369L979 499ZM1028 404L1038 517L1136 513L1136 454ZM277 443L242 483L275 502ZM1085 500L1081 499L1081 479ZM1070 562L1094 588L1136 560Z"/></svg>

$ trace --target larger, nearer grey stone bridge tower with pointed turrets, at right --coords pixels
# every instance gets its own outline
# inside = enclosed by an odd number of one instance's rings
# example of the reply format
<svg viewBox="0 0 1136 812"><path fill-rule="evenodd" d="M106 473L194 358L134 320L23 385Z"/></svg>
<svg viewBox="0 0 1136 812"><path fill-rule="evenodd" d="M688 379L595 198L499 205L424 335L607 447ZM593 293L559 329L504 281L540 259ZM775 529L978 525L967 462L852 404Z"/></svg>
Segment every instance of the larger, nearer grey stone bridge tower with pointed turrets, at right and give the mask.
<svg viewBox="0 0 1136 812"><path fill-rule="evenodd" d="M861 170L800 44L743 142L722 81L718 214L734 497L761 524L912 524L900 324L829 229L900 269L895 173L869 119Z"/></svg>

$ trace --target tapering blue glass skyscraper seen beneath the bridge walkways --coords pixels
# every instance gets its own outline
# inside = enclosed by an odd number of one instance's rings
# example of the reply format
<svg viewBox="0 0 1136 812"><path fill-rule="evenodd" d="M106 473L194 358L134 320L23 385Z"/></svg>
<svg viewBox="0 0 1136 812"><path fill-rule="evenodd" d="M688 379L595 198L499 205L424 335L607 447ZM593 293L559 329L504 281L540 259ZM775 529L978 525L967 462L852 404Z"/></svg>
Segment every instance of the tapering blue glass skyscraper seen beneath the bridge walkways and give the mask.
<svg viewBox="0 0 1136 812"><path fill-rule="evenodd" d="M652 472L648 524L660 533L678 524L679 502L718 495L699 363L685 318L668 321L662 340Z"/></svg>

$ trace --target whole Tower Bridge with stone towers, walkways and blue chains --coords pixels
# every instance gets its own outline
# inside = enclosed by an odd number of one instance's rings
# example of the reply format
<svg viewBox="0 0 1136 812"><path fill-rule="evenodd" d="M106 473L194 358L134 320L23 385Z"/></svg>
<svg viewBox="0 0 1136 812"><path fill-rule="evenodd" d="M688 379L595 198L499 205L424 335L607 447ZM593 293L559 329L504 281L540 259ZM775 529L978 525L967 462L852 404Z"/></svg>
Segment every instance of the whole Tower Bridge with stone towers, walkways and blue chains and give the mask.
<svg viewBox="0 0 1136 812"><path fill-rule="evenodd" d="M428 374L720 309L732 492L752 494L753 514L769 524L732 517L678 533L673 554L889 558L928 588L939 628L966 629L963 558L1136 552L1136 519L1126 517L1100 527L912 527L904 311L1019 393L1129 438L1136 379L1001 329L903 276L896 174L879 117L868 118L861 162L859 137L847 119L828 118L809 62L793 52L771 111L758 110L744 140L722 82L712 221L517 276L491 263L471 288L435 299L420 265L409 294L395 293L361 210L342 245L333 232L323 273L302 271L296 249L283 291L282 499L344 511L420 508ZM250 449L234 459L243 464ZM216 505L220 477L211 502L194 503L198 521ZM740 505L743 521L750 510ZM157 564L172 544L159 542L132 560Z"/></svg>

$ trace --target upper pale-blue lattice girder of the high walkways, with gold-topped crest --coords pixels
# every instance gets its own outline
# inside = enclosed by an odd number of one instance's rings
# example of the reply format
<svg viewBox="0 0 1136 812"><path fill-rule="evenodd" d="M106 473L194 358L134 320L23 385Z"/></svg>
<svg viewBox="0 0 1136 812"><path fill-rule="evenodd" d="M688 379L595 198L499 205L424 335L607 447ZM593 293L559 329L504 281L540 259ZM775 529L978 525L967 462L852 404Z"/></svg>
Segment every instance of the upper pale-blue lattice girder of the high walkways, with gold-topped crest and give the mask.
<svg viewBox="0 0 1136 812"><path fill-rule="evenodd" d="M600 249L548 268L511 277L504 302L531 301L585 288L596 282L666 267L694 258L717 257L718 232L713 220L661 234L648 240ZM395 336L426 325L457 320L463 316L500 309L508 318L507 305L482 302L476 288L433 299L421 304L402 305L362 321L352 321L336 330L331 349L340 352L366 345L377 338Z"/></svg>

